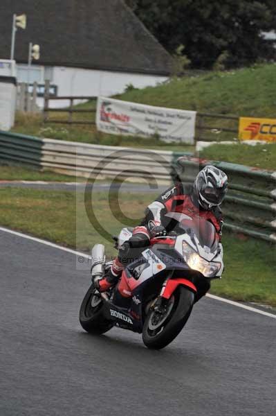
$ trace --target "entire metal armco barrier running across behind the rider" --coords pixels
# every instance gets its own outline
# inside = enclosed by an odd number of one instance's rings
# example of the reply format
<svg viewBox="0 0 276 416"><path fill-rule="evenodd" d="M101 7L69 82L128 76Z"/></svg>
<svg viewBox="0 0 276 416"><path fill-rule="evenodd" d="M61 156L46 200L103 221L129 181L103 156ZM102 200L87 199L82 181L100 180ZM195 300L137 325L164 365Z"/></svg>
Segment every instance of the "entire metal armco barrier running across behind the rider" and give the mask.
<svg viewBox="0 0 276 416"><path fill-rule="evenodd" d="M131 177L169 184L169 172L192 182L199 168L214 164L229 177L223 202L226 228L276 243L276 172L226 162L207 161L179 153L140 148L98 146L39 139L0 132L0 160L47 168L68 175L98 178Z"/></svg>

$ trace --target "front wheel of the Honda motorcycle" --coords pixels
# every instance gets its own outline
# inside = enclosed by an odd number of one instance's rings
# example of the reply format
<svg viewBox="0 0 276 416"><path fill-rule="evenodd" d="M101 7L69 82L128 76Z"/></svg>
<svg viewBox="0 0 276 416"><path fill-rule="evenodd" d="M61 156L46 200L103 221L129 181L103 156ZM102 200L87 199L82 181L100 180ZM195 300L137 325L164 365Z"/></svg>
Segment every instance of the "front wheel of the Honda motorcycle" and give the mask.
<svg viewBox="0 0 276 416"><path fill-rule="evenodd" d="M172 297L158 311L149 311L142 329L142 340L146 347L161 349L178 336L187 322L194 293L184 286L178 286Z"/></svg>

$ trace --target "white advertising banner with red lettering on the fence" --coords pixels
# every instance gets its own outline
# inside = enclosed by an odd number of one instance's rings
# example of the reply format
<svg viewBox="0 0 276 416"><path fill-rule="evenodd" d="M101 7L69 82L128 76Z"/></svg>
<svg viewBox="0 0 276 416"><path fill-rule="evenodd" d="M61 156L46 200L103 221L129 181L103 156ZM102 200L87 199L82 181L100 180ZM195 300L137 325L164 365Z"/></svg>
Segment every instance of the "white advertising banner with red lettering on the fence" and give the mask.
<svg viewBox="0 0 276 416"><path fill-rule="evenodd" d="M152 137L194 144L196 112L98 97L97 128L111 135Z"/></svg>

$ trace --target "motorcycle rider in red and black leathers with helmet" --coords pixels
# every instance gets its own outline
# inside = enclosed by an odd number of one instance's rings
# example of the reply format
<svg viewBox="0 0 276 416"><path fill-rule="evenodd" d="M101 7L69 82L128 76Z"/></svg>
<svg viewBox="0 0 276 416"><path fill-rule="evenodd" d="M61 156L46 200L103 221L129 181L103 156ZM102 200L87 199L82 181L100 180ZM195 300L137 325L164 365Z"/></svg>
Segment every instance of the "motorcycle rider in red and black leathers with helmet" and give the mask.
<svg viewBox="0 0 276 416"><path fill-rule="evenodd" d="M122 270L127 263L134 261L140 254L135 248L149 245L149 240L158 236L165 236L171 231L165 214L169 211L187 214L192 218L209 220L217 229L218 239L221 239L223 217L220 205L228 190L228 177L226 173L215 166L205 166L196 176L194 185L183 187L177 182L174 187L162 193L146 209L145 218L138 227L134 228L129 243L120 248L118 257L114 259L107 276L94 281L99 291L107 291L115 286L120 279ZM129 249L131 244L131 249ZM140 250L140 249L139 249Z"/></svg>

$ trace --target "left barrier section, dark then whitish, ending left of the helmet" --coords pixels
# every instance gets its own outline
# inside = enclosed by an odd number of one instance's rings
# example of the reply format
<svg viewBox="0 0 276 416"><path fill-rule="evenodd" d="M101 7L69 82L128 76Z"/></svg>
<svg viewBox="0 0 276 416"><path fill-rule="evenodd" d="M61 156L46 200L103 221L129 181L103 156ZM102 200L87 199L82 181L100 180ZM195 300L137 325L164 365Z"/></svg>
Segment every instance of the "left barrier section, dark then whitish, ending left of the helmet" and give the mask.
<svg viewBox="0 0 276 416"><path fill-rule="evenodd" d="M171 182L172 152L99 146L0 132L0 159L47 168L67 175L129 177Z"/></svg>

